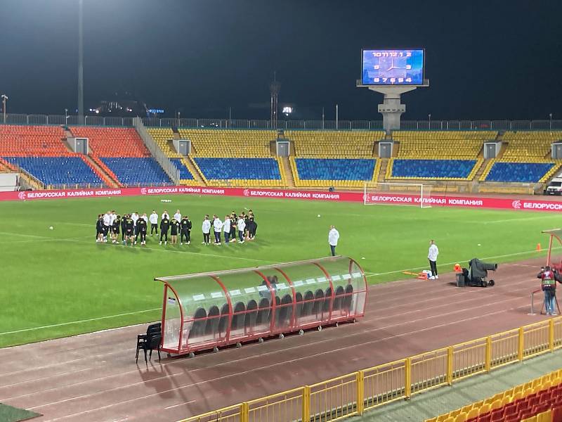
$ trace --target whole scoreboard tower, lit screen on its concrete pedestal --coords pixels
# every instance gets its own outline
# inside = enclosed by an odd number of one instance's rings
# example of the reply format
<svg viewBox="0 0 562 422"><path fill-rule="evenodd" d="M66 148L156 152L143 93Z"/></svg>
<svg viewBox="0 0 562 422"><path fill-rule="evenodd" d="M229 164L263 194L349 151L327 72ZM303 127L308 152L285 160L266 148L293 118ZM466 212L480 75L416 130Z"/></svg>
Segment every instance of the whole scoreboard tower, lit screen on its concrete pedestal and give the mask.
<svg viewBox="0 0 562 422"><path fill-rule="evenodd" d="M361 79L355 86L383 94L378 108L383 128L386 132L400 129L400 116L406 111L400 96L417 87L429 87L429 79L424 78L425 50L362 49L361 60Z"/></svg>

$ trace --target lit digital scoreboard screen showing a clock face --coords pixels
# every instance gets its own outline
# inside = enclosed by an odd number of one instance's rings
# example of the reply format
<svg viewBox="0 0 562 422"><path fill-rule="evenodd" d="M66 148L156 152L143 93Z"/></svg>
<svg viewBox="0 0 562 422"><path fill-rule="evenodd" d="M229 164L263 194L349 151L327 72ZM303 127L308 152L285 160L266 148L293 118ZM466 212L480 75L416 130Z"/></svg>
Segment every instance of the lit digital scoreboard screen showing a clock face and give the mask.
<svg viewBox="0 0 562 422"><path fill-rule="evenodd" d="M423 85L424 50L362 50L363 85Z"/></svg>

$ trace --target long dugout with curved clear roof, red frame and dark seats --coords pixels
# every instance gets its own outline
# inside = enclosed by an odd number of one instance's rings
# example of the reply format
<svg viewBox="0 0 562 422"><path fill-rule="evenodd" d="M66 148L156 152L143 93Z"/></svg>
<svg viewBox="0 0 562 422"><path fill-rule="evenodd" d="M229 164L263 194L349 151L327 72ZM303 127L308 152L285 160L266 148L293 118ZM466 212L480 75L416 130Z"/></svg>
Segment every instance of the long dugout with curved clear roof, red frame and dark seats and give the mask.
<svg viewBox="0 0 562 422"><path fill-rule="evenodd" d="M155 280L164 283L162 350L170 354L353 321L367 296L362 268L341 256Z"/></svg>

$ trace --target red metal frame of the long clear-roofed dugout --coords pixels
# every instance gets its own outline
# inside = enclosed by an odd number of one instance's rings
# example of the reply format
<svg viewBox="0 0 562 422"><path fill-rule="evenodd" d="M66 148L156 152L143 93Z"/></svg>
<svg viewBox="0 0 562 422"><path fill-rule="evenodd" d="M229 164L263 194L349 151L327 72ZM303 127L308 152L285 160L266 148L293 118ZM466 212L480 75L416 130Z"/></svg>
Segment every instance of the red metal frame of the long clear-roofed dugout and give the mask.
<svg viewBox="0 0 562 422"><path fill-rule="evenodd" d="M272 298L280 298L280 296L277 296L276 290L273 288L273 286L271 286L270 281L268 280L268 277L265 276L261 271L259 271L259 268L256 269L251 269L251 271L253 271L254 273L256 273L257 275L259 275L261 277L261 279L263 279L263 281L265 281L266 286L268 287L268 291L270 293L270 306L267 308L256 308L256 309L244 309L244 311L240 311L240 312L234 312L234 307L233 307L233 301L232 298L230 297L230 293L228 293L228 289L226 288L226 286L224 286L224 284L222 283L222 281L220 280L220 278L216 275L212 275L212 274L207 274L208 276L211 277L211 279L214 279L214 281L216 281L216 283L218 283L218 286L221 287L225 298L226 298L226 304L228 305L228 314L221 314L219 313L218 315L215 316L209 316L207 314L207 316L202 317L202 318L195 318L194 316L189 317L188 319L184 318L184 310L183 310L183 304L181 302L181 298L179 297L179 295L177 294L176 290L174 290L174 288L167 283L166 281L163 281L164 283L164 299L162 302L162 347L160 350L164 351L164 352L168 352L171 354L187 354L190 352L197 352L200 350L209 350L212 349L214 347L223 347L223 346L227 346L227 345L232 345L235 343L244 343L244 342L248 342L248 341L252 341L252 340L256 340L258 338L268 338L271 337L273 335L278 335L278 334L287 334L287 333L293 333L299 330L306 330L306 329L310 329L310 328L315 328L318 326L324 326L324 325L333 325L339 322L345 322L345 321L353 321L354 319L358 319L362 316L365 316L365 304L367 303L367 279L365 277L365 272L363 271L362 267L358 264L358 262L356 262L355 260L348 258L350 260L349 262L349 272L351 273L351 269L353 267L353 264L355 264L357 266L357 268L359 269L360 273L362 274L362 288L359 290L353 290L353 292L351 293L343 293L341 295L337 295L338 298L341 298L342 302L344 301L345 298L347 297L352 297L358 296L360 294L364 294L365 295L365 300L363 302L363 306L362 309L358 309L357 313L355 314L351 314L351 308L348 309L345 313L343 314L339 314L339 315L335 315L334 313L334 309L333 309L333 305L334 305L334 300L336 298L336 294L335 294L335 289L334 289L334 284L332 282L332 277L329 276L329 272L326 271L326 269L324 267L322 267L322 265L319 262L315 262L314 260L308 261L311 264L314 264L315 266L317 266L320 271L322 271L323 274L325 274L327 281L329 282L329 289L331 290L331 294L329 295L329 309L327 310L327 312L325 312L323 310L323 306L325 303L325 300L327 299L327 296L323 296L322 298L315 298L313 297L311 300L304 300L304 298L300 301L296 300L296 290L294 288L293 282L290 279L290 277L285 273L285 271L283 271L282 269L280 269L279 267L277 267L277 265L273 265L273 266L269 266L269 269L274 269L275 271L278 271L282 277L287 281L287 283L289 284L289 287L292 290L292 302L291 303L287 303L284 305L277 305L276 300L273 300ZM351 279L348 280L348 284L351 284ZM169 289L169 290L168 290ZM320 290L320 289L318 289ZM316 291L318 291L316 290ZM164 347L164 333L165 333L165 324L166 324L166 300L167 297L169 295L169 291L171 291L172 293L174 293L174 296L176 298L176 301L178 303L178 306L180 308L180 318L181 318L181 324L179 327L179 335L178 335L178 347L177 348L171 348L171 347ZM312 290L310 290L312 291ZM325 293L325 291L324 291ZM299 321L299 315L296 314L296 306L297 304L301 304L302 306L304 306L306 303L318 303L318 307L319 310L317 310L316 312L316 320L315 321ZM313 305L314 306L314 305ZM287 324L286 326L277 326L277 310L281 309L283 307L291 307L291 317L289 319L289 324ZM243 327L243 333L242 335L236 335L236 336L232 336L232 323L233 323L233 318L235 316L245 316L246 314L249 314L251 312L259 312L260 310L263 309L268 309L268 311L270 312L270 321L269 321L269 329L266 331L254 331L255 326L250 327L249 332L247 331L247 327L244 324ZM340 308L340 312L341 312ZM311 314L312 315L312 314ZM214 333L212 340L208 340L202 343L197 343L195 345L190 345L189 343L189 335L188 335L188 340L185 340L185 345L183 344L183 334L184 334L184 328L185 328L185 324L194 324L195 321L198 321L200 323L204 322L205 324L207 324L207 321L210 321L211 319L220 319L221 318L225 318L227 317L228 319L226 320L226 333L221 336L221 332L218 331L217 333ZM191 325L192 326L192 325ZM218 335L218 338L217 338Z"/></svg>

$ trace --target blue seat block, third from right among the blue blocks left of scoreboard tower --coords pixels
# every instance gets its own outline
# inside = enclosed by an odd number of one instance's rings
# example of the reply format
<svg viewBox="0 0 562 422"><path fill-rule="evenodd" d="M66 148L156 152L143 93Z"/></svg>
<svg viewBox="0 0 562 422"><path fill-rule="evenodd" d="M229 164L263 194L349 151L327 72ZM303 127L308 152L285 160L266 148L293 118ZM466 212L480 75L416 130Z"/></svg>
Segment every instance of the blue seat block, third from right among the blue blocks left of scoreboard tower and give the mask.
<svg viewBox="0 0 562 422"><path fill-rule="evenodd" d="M280 180L279 165L273 158L195 158L209 180Z"/></svg>

